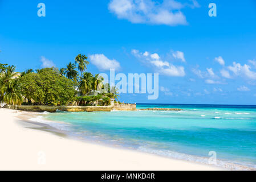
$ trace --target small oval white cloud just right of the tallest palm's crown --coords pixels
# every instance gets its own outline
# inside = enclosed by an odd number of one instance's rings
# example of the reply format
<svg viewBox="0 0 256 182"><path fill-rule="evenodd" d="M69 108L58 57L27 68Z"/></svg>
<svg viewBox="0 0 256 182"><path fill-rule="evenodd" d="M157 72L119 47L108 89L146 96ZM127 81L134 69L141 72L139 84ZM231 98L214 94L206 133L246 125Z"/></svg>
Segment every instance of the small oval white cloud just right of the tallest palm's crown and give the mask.
<svg viewBox="0 0 256 182"><path fill-rule="evenodd" d="M120 69L120 63L115 59L110 60L103 54L95 54L90 56L91 63L101 71L109 69Z"/></svg>

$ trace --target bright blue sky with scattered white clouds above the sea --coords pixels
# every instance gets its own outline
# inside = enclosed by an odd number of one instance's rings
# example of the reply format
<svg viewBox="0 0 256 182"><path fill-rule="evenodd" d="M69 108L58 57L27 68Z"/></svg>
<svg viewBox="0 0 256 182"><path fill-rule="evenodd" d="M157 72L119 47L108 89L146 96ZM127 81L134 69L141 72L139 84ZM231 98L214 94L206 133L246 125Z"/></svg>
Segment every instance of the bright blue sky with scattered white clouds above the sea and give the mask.
<svg viewBox="0 0 256 182"><path fill-rule="evenodd" d="M46 17L38 17L38 3ZM217 17L210 17L209 3ZM78 53L88 70L159 73L157 100L122 94L121 101L255 104L256 2L0 0L0 60L17 71L65 67Z"/></svg>

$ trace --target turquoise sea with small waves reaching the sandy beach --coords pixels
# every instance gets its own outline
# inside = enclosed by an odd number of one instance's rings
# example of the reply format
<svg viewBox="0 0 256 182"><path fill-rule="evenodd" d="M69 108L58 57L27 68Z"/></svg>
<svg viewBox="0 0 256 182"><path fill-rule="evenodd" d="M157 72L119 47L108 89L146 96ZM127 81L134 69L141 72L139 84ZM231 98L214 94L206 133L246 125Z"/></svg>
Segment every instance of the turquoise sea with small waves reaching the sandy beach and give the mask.
<svg viewBox="0 0 256 182"><path fill-rule="evenodd" d="M137 104L149 107L183 110L58 112L43 121L93 142L206 164L216 154L216 166L256 169L256 106Z"/></svg>

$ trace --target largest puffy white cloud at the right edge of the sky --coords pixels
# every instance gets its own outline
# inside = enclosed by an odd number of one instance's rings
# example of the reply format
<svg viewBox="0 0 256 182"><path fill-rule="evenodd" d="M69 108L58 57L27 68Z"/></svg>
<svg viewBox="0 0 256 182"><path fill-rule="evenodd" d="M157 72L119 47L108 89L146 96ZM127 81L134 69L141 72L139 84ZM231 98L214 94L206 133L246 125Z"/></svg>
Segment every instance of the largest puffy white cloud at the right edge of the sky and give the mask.
<svg viewBox="0 0 256 182"><path fill-rule="evenodd" d="M247 64L241 65L240 63L233 62L233 66L228 67L230 71L232 71L236 76L245 76L247 78L256 79L256 73L251 71L251 67Z"/></svg>

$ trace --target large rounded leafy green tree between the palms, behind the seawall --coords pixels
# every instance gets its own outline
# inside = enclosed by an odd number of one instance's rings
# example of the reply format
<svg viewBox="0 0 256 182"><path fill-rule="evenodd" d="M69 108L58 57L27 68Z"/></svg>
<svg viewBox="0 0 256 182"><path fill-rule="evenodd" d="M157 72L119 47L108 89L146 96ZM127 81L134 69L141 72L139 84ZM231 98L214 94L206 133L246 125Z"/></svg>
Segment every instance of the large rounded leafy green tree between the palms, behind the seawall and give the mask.
<svg viewBox="0 0 256 182"><path fill-rule="evenodd" d="M75 100L74 82L60 77L54 68L40 69L19 79L21 91L29 102L36 105L68 105Z"/></svg>

